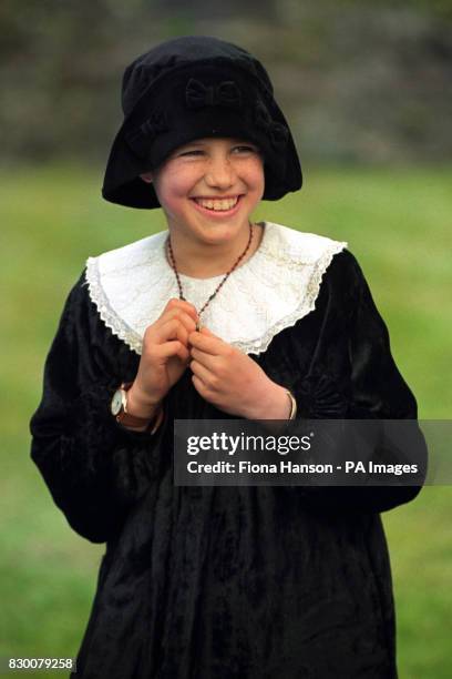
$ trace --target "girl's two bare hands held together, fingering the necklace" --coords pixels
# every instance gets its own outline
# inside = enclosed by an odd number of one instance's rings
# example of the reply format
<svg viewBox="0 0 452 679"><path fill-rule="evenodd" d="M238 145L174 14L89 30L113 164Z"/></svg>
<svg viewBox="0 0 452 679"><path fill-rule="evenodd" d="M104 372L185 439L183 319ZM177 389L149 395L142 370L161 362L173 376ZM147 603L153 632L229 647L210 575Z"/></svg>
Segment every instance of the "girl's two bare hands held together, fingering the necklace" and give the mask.
<svg viewBox="0 0 452 679"><path fill-rule="evenodd" d="M197 332L197 322L193 304L171 300L146 328L130 393L134 414L151 415L189 367L195 389L224 413L247 419L287 418L290 403L284 387L249 356L206 327Z"/></svg>

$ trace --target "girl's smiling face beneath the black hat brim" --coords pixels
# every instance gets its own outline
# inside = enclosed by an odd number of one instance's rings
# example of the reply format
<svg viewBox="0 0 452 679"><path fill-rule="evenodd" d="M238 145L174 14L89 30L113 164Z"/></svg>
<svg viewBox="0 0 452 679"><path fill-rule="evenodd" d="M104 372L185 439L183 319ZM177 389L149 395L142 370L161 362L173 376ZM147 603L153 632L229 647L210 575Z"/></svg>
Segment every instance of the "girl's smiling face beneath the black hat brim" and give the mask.
<svg viewBox="0 0 452 679"><path fill-rule="evenodd" d="M264 194L259 150L236 139L191 142L142 179L154 183L170 230L204 244L243 235Z"/></svg>

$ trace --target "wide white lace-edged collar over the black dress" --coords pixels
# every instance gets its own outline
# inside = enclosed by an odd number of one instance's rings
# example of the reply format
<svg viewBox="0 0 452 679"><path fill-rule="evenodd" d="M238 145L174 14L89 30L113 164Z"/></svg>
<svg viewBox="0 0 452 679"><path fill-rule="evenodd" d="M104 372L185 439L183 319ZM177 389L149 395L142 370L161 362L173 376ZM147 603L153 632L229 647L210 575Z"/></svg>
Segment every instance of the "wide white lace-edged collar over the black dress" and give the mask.
<svg viewBox="0 0 452 679"><path fill-rule="evenodd" d="M315 308L323 273L347 245L271 222L263 225L258 250L203 313L203 323L215 335L247 354L265 352L275 335ZM165 256L167 234L162 231L86 262L90 297L102 321L137 354L146 327L171 297L178 297ZM185 297L201 308L222 277L181 275Z"/></svg>

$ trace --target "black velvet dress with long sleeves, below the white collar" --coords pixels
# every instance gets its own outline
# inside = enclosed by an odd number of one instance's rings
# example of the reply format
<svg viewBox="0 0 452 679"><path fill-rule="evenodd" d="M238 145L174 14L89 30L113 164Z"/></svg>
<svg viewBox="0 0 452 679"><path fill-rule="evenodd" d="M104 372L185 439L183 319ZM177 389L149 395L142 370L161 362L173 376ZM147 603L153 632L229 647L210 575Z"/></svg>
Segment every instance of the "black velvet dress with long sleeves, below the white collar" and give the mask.
<svg viewBox="0 0 452 679"><path fill-rule="evenodd" d="M393 679L379 513L419 487L175 487L174 418L222 418L189 371L157 434L122 428L114 389L140 356L71 291L32 417L32 459L69 524L106 541L80 679ZM251 356L298 417L415 418L386 326L348 252L316 308Z"/></svg>

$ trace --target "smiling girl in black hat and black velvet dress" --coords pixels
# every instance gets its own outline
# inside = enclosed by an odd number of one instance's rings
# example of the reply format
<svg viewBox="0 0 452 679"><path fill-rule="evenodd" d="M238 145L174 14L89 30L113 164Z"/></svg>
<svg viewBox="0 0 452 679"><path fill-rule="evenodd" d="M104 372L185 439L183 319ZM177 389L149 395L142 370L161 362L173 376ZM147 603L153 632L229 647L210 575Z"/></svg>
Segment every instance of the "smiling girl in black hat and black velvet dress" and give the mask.
<svg viewBox="0 0 452 679"><path fill-rule="evenodd" d="M175 418L414 418L345 243L269 222L301 185L270 80L214 38L125 71L103 195L168 230L90 257L45 363L32 458L106 543L84 679L394 678L379 513L419 487L175 487Z"/></svg>

